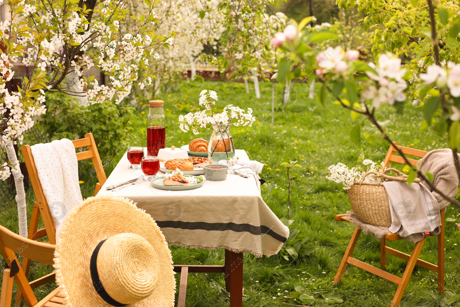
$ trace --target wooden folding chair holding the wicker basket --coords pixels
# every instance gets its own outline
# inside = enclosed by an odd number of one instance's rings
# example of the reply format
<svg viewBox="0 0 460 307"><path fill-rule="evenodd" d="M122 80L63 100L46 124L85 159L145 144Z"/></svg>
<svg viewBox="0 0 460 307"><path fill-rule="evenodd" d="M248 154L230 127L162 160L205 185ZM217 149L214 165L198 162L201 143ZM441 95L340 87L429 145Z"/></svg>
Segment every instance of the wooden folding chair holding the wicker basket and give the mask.
<svg viewBox="0 0 460 307"><path fill-rule="evenodd" d="M395 145L397 145L397 143L395 143ZM424 157L427 153L427 151L420 151L420 150L409 148L409 147L397 146L397 148L399 148L406 156L414 156L414 157L421 158L421 157ZM396 162L396 163L400 163L404 165L406 164L403 157L396 155L397 152L398 151L396 147L391 145L390 149L388 150L385 156L384 165L382 169L388 168L390 166L390 162ZM417 163L417 160L415 159L408 158L408 160L411 165L416 165ZM340 221L348 221L348 222L350 221L349 219L345 217L345 214L337 214L335 216L335 220L339 222ZM390 254L390 255L393 255L393 256L396 256L396 257L399 257L401 259L408 261L408 264L406 266L406 269L404 270L402 277L398 277L389 272L385 272L375 266L371 266L351 256L351 254L353 253L353 249L355 249L359 235L361 234L361 230L359 229L359 227L356 227L355 231L353 232L353 236L351 237L350 243L348 244L348 248L345 251L345 255L342 259L342 262L340 263L339 270L337 271L337 274L335 275L333 284L338 284L340 282L340 280L342 279L345 273L347 264L357 266L367 272L380 276L381 278L385 278L386 280L389 280L398 285L395 296L393 297L393 301L391 301L391 305L390 305L391 307L396 307L399 305L399 302L401 301L401 298L403 297L404 290L406 290L406 286L408 284L412 271L414 270L414 266L417 264L419 266L427 268L428 270L437 272L437 290L443 293L444 292L444 209L441 210L441 220L442 220L441 232L437 236L437 242L438 242L437 243L437 265L434 265L430 262L419 259L420 251L423 247L423 243L425 243L426 237L423 238L421 241L415 243L415 247L410 255L405 254L399 250L392 249L391 247L388 247L386 245L386 241L395 241L395 240L402 239L396 233L387 234L385 238L383 239L383 241L380 242L380 266L382 268L385 268L386 266L386 254ZM429 234L427 236L431 237L432 235Z"/></svg>

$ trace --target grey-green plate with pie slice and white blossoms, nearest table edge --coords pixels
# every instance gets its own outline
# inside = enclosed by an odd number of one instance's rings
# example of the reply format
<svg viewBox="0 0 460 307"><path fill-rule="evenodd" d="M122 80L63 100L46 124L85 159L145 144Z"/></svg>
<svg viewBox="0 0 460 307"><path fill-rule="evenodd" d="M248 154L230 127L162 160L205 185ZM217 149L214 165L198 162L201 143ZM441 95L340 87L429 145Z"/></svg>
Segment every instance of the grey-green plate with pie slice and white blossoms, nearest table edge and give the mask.
<svg viewBox="0 0 460 307"><path fill-rule="evenodd" d="M171 170L164 177L152 179L151 184L160 190L183 191L199 188L204 183L203 176L192 176L184 174L178 169Z"/></svg>

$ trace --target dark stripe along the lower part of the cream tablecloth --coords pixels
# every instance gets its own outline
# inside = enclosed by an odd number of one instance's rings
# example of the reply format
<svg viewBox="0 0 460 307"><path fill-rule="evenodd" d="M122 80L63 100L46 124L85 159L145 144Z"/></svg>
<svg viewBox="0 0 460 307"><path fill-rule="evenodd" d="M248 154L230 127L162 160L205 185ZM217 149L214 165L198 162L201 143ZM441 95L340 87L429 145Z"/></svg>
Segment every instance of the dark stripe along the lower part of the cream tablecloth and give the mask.
<svg viewBox="0 0 460 307"><path fill-rule="evenodd" d="M284 243L287 238L282 235L274 232L269 227L253 226L251 224L236 224L236 223L207 223L207 222L183 222L180 220L157 220L156 224L160 228L181 228L181 229L190 229L190 230L217 230L217 231L226 231L231 230L234 232L249 232L253 235L262 235L268 234L270 237L275 238L276 240Z"/></svg>

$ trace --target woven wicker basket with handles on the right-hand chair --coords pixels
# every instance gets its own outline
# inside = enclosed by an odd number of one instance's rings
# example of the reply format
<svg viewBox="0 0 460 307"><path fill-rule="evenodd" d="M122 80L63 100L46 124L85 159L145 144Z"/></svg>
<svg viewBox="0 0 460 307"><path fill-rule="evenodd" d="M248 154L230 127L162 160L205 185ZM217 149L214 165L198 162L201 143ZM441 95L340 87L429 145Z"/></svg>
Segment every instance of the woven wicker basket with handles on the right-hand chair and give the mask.
<svg viewBox="0 0 460 307"><path fill-rule="evenodd" d="M388 176L388 171L395 171L396 176ZM379 178L379 182L363 182L366 176L374 174L374 177ZM383 173L369 171L364 174L361 181L355 181L348 189L348 199L351 203L351 209L359 220L366 224L374 226L391 226L390 203L388 202L388 194L382 184L382 178L390 181L407 182L408 176L401 173L396 168L387 168ZM420 179L415 178L415 183L419 183Z"/></svg>

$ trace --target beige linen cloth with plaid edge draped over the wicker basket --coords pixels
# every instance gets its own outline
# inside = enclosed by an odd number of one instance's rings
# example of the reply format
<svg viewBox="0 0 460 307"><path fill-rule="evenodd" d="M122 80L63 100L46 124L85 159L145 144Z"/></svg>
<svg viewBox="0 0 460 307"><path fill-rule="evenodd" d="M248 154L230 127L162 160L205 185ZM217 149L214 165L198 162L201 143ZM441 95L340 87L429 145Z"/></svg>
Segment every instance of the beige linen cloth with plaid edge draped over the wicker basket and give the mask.
<svg viewBox="0 0 460 307"><path fill-rule="evenodd" d="M410 241L418 242L425 232L441 226L436 198L422 184L400 181L384 182L391 211L390 231Z"/></svg>

